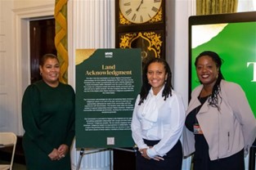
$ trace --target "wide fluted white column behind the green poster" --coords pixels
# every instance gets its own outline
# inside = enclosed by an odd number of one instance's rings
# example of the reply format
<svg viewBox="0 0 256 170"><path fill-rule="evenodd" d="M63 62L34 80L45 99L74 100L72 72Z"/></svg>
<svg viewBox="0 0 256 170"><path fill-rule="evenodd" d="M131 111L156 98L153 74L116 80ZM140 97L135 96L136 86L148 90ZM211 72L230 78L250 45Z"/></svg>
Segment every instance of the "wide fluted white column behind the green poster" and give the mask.
<svg viewBox="0 0 256 170"><path fill-rule="evenodd" d="M75 87L75 50L115 47L115 0L70 0L68 17L69 83ZM72 169L77 169L80 150L74 145L71 149L71 161ZM112 151L97 152L98 150L100 149L84 151L79 170L112 169ZM94 151L95 153L91 153Z"/></svg>

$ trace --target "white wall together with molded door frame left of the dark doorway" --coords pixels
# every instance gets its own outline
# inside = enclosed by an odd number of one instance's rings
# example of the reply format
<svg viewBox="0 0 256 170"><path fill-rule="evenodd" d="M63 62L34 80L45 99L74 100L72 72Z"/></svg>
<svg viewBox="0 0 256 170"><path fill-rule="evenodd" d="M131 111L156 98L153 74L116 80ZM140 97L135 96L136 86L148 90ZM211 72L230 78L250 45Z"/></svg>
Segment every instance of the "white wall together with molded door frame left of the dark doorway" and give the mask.
<svg viewBox="0 0 256 170"><path fill-rule="evenodd" d="M23 134L21 98L29 84L29 20L53 16L54 0L0 0L0 132Z"/></svg>

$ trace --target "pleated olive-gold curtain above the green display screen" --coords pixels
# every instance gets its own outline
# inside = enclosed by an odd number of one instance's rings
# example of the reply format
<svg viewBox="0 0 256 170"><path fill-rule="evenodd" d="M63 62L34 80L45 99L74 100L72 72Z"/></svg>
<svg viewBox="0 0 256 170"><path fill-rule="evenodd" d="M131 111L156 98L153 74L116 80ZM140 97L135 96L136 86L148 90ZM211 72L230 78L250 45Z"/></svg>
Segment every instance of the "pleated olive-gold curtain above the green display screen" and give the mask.
<svg viewBox="0 0 256 170"><path fill-rule="evenodd" d="M234 13L238 0L196 0L196 15Z"/></svg>

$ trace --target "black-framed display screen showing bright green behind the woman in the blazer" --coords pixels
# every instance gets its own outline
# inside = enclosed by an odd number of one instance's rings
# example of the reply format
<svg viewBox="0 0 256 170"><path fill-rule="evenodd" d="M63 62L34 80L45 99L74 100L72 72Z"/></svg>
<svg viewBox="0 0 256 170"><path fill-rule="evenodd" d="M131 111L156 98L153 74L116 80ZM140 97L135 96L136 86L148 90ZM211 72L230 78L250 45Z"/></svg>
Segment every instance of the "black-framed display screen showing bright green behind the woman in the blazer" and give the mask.
<svg viewBox="0 0 256 170"><path fill-rule="evenodd" d="M189 18L189 94L200 84L194 63L202 51L223 59L224 78L243 88L256 117L256 11Z"/></svg>

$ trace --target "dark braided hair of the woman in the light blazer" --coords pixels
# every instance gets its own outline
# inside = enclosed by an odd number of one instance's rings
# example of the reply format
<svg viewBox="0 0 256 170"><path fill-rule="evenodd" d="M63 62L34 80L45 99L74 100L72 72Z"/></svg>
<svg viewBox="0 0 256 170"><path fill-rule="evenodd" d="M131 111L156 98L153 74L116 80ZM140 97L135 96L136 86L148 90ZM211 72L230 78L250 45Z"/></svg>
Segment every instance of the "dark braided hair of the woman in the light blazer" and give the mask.
<svg viewBox="0 0 256 170"><path fill-rule="evenodd" d="M219 110L219 107L218 107L218 96L219 96L219 92L221 91L221 87L220 87L220 83L222 81L222 79L225 79L222 75L222 71L221 71L221 66L222 66L222 58L220 56L218 56L218 54L216 52L213 52L213 51L203 51L200 53L199 56L196 57L195 59L195 67L197 65L197 62L198 60L200 59L201 56L209 56L212 58L212 60L215 62L216 64L216 67L218 68L218 78L215 82L215 84L213 85L213 92L211 94L211 96L209 97L208 99L208 103L209 105L215 107L215 108L218 108ZM202 83L200 81L200 83ZM221 100L222 100L222 97L220 96Z"/></svg>

